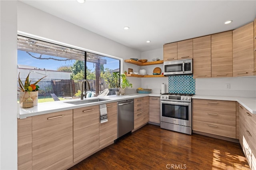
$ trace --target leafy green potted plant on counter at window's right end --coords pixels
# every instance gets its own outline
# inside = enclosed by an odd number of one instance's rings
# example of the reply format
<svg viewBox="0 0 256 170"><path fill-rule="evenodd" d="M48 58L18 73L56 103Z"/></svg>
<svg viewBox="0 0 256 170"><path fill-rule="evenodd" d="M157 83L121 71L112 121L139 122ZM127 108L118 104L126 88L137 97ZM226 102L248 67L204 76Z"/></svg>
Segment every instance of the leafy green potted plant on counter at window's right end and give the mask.
<svg viewBox="0 0 256 170"><path fill-rule="evenodd" d="M121 78L121 83L119 83L120 78ZM132 87L132 83L130 83L130 81L127 79L125 74L120 74L118 72L114 72L113 73L113 81L115 83L115 87L117 88L117 91L119 92L121 89L121 91L120 91L121 95L124 95L126 87ZM118 95L118 94L116 93L116 95Z"/></svg>

